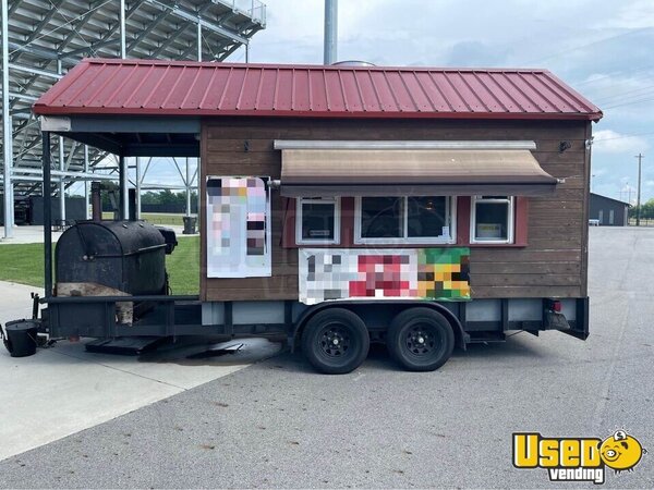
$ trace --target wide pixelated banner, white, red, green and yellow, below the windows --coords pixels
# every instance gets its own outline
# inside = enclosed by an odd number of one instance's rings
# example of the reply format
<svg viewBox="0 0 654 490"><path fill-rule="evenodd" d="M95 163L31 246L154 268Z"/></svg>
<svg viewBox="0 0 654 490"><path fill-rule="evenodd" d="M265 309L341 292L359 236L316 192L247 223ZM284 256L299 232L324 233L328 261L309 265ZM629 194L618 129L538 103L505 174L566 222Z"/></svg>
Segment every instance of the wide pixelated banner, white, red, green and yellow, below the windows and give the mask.
<svg viewBox="0 0 654 490"><path fill-rule="evenodd" d="M300 301L465 301L469 259L469 248L301 248Z"/></svg>

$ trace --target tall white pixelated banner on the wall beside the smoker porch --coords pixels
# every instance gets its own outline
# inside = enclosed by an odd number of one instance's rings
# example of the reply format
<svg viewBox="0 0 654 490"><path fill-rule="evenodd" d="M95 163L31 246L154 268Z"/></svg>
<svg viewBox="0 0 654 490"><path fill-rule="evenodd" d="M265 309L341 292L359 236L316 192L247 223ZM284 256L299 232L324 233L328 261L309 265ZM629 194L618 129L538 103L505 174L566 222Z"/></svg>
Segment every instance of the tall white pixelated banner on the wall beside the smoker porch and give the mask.
<svg viewBox="0 0 654 490"><path fill-rule="evenodd" d="M265 179L207 179L207 278L269 277L270 198Z"/></svg>

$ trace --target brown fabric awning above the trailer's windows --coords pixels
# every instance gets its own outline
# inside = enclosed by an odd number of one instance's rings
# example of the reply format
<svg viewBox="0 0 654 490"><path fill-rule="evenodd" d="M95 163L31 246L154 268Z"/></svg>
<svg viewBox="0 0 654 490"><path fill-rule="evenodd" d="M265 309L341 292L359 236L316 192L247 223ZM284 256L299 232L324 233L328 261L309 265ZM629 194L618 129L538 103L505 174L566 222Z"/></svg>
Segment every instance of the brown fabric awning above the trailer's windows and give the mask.
<svg viewBox="0 0 654 490"><path fill-rule="evenodd" d="M540 195L557 179L524 149L283 149L281 195Z"/></svg>

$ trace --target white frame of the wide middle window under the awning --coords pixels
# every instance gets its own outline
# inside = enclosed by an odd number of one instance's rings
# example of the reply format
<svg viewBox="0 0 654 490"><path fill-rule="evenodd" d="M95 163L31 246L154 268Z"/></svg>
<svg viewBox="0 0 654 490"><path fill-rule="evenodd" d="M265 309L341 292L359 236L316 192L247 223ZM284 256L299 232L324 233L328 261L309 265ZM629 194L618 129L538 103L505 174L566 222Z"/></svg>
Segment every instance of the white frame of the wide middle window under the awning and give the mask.
<svg viewBox="0 0 654 490"><path fill-rule="evenodd" d="M377 196L371 196L377 197ZM402 235L401 237L374 237L366 238L361 236L361 200L362 196L354 198L354 244L355 245L453 245L457 243L457 196L378 196L378 197L399 197L402 199ZM438 236L409 236L409 220L407 212L409 209L409 197L445 197L445 212L449 218L450 237Z"/></svg>

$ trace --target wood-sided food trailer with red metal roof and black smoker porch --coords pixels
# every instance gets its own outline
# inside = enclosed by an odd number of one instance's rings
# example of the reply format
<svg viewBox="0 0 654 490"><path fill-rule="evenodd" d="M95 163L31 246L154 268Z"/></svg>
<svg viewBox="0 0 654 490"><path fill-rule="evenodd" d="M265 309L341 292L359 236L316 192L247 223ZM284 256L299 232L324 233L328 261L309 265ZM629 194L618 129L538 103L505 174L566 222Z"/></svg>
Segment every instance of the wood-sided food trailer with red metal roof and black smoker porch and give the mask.
<svg viewBox="0 0 654 490"><path fill-rule="evenodd" d="M53 260L45 193L51 338L281 333L342 373L377 341L433 370L511 330L589 334L602 112L547 71L87 59L34 112L46 189L52 134L117 155L121 181L125 157L199 157L198 296L169 291L174 238L124 205Z"/></svg>

